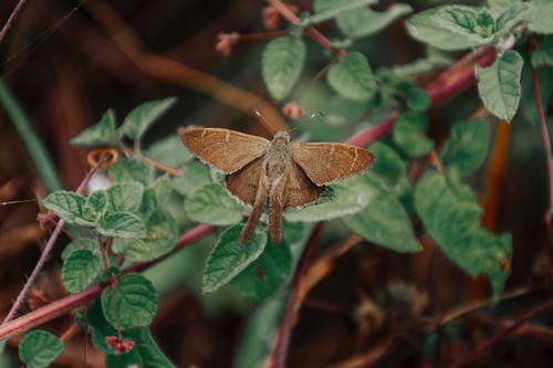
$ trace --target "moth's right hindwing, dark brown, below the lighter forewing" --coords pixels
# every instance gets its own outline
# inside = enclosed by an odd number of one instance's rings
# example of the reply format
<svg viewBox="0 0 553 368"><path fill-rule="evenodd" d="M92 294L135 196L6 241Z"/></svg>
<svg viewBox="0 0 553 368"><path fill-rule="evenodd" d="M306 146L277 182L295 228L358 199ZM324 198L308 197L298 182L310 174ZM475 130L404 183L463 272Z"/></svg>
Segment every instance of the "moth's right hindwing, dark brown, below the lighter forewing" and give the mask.
<svg viewBox="0 0 553 368"><path fill-rule="evenodd" d="M317 187L295 162L290 162L286 207L301 207L321 198L324 188Z"/></svg>

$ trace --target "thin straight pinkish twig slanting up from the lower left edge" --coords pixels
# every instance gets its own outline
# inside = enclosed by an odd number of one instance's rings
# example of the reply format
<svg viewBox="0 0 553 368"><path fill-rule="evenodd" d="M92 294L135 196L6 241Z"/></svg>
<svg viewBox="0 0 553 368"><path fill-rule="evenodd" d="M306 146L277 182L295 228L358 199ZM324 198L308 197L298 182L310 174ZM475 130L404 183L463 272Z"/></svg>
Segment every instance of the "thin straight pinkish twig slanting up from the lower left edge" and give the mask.
<svg viewBox="0 0 553 368"><path fill-rule="evenodd" d="M102 162L100 162L100 165L101 164ZM86 188L86 185L88 183L91 178L94 176L97 168L98 168L98 166L92 168L91 171L86 175L86 177L83 179L83 181L81 182L81 185L76 189L77 193L82 193L84 191L84 189ZM13 319L13 317L18 313L19 308L21 307L21 304L23 304L23 301L27 297L27 294L29 294L29 291L31 290L32 285L34 284L34 281L39 276L39 273L44 267L44 264L46 263L46 260L50 256L50 252L52 251L52 248L54 246L54 243L58 240L58 236L60 235L60 232L62 231L64 224L65 224L64 220L58 221L58 224L55 225L54 230L52 231L52 234L50 235L50 239L48 240L46 245L44 246L44 250L42 251L42 254L40 255L39 261L36 262L36 265L34 266L31 275L27 280L25 285L23 286L23 288L19 293L18 297L15 298L15 303L13 303L10 312L8 313L8 315L6 316L6 319L2 322L2 325L0 325L0 326L6 325L8 322Z"/></svg>

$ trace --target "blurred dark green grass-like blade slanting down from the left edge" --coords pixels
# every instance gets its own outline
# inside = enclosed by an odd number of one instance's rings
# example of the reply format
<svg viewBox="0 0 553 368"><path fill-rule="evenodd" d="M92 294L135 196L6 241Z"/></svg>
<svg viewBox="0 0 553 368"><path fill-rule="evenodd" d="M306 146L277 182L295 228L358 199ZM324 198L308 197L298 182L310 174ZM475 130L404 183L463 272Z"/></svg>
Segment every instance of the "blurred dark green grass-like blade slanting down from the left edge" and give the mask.
<svg viewBox="0 0 553 368"><path fill-rule="evenodd" d="M46 189L49 191L63 189L58 170L55 169L44 143L40 139L36 132L34 132L29 117L2 80L0 80L0 104L3 105L6 113L10 116L13 126L21 136L21 139L23 139L23 143L34 161L36 171L39 172Z"/></svg>

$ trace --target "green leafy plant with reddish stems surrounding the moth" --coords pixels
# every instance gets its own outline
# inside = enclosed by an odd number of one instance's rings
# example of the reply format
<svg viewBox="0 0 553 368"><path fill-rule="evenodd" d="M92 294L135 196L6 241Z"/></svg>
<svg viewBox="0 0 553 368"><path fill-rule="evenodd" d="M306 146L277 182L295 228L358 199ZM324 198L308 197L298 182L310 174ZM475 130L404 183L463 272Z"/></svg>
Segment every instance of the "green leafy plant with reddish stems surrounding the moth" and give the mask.
<svg viewBox="0 0 553 368"><path fill-rule="evenodd" d="M373 0L314 0L313 9L298 17L278 0L269 2L290 25L285 35L272 39L263 49L260 64L267 91L279 104L295 102L312 113L299 118L298 129L315 140L345 140L359 130L348 141L367 146L376 155L373 168L330 186L317 203L289 210L282 243L268 241L267 221L262 221L241 244L242 214L249 209L223 190L220 172L195 160L175 135L143 147L148 129L176 99L143 104L121 125L114 112L107 111L72 144L116 148L124 154L109 162L112 185L86 197L79 191L54 191L42 202L60 219L58 227L66 225L72 234L73 241L62 253L62 281L72 296L33 315L33 324L23 316L0 326L1 338L87 305L75 323L106 354L108 367L173 366L149 333L158 296L139 272L215 227L226 229L207 257L202 292L217 292L230 283L247 298L263 303L246 330L243 346L249 348L240 349L237 367L265 360L273 367L284 366L291 320L309 291L302 288L302 276L313 264L320 243L322 225L317 222L340 219L361 239L398 253L420 251L420 239L428 234L463 272L487 276L492 304L500 299L510 271L511 235L498 235L482 225L483 210L467 179L489 156L495 120L517 119L524 104L521 77L529 70L546 147L549 185L553 186L551 143L535 72L538 66L553 64L552 3L490 0L481 7L440 6L420 11L407 19L406 29L427 44L427 55L407 65L374 69L363 41L410 14L410 6L396 3L375 11L369 8L376 2ZM334 39L315 28L330 21L335 25ZM458 61L445 54L470 49ZM446 66L425 87L414 78ZM314 77L321 74L319 69L324 78ZM459 120L445 124L447 138L432 134L430 108L472 84L489 113L468 117L462 112ZM551 87L544 93L549 99ZM311 124L313 116L316 124ZM372 124L362 127L361 120ZM105 161L104 157L94 170ZM166 175L167 167L182 169L182 175ZM177 215L169 202L182 203L179 211L186 217ZM552 209L553 194L546 209L547 225ZM194 222L201 224L192 228ZM182 229L186 232L179 238ZM439 324L432 326L437 327ZM255 345L252 336L260 328L267 334L258 336L261 343ZM34 353L38 346L40 359ZM61 346L55 336L32 332L20 345L20 357L29 366L44 367L61 354ZM483 349L477 348L458 364L469 362Z"/></svg>

